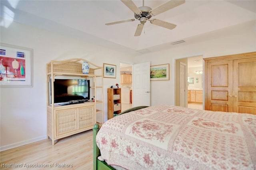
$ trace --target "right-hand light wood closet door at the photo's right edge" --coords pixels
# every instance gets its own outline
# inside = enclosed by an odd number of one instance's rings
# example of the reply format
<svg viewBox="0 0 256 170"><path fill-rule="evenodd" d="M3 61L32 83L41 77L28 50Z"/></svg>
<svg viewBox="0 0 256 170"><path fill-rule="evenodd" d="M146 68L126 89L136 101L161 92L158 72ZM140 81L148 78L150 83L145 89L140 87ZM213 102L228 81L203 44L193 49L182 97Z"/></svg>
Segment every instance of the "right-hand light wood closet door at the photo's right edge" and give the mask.
<svg viewBox="0 0 256 170"><path fill-rule="evenodd" d="M234 60L233 111L256 114L256 57Z"/></svg>

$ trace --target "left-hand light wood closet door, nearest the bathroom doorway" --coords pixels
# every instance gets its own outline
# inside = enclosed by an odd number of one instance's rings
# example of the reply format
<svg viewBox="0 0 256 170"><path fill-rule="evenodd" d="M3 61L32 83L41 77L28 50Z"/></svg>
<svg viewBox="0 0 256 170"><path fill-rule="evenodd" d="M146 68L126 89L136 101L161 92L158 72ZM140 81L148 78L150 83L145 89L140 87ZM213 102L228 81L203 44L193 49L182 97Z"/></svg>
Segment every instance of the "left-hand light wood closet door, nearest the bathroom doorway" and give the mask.
<svg viewBox="0 0 256 170"><path fill-rule="evenodd" d="M207 63L206 110L233 110L233 61Z"/></svg>

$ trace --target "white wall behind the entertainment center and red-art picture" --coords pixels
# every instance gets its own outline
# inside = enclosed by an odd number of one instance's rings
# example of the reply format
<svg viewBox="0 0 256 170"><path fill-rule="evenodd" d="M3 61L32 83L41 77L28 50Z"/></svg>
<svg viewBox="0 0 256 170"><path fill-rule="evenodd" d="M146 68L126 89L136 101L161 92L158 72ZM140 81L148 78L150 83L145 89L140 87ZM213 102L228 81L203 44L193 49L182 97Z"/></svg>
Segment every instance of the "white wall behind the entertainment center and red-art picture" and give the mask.
<svg viewBox="0 0 256 170"><path fill-rule="evenodd" d="M6 150L34 141L46 139L46 63L51 60L84 58L94 64L132 63L134 58L124 53L78 41L54 33L13 22L8 28L1 27L1 43L33 49L33 87L0 88L0 149ZM104 101L107 88L120 83L104 78ZM107 119L107 102L104 103Z"/></svg>

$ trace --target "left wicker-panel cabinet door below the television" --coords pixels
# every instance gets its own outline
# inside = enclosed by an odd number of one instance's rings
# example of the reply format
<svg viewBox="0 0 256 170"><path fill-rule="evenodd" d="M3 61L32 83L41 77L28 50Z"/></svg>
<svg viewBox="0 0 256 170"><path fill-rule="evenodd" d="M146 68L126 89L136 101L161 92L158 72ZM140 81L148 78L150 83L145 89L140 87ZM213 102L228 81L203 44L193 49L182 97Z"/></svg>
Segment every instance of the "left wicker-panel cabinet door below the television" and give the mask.
<svg viewBox="0 0 256 170"><path fill-rule="evenodd" d="M77 130L77 109L56 111L56 136Z"/></svg>

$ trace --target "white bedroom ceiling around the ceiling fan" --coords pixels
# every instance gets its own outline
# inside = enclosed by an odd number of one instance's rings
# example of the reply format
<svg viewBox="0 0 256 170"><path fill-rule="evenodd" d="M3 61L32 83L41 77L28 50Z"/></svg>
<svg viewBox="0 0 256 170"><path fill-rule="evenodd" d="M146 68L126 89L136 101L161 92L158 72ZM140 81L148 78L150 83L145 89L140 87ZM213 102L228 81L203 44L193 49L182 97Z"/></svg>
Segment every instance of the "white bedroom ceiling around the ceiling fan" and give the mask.
<svg viewBox="0 0 256 170"><path fill-rule="evenodd" d="M4 27L8 27L11 21L17 21L131 54L159 51L205 41L223 33L256 29L256 0L186 0L178 7L152 17L176 24L175 29L166 29L147 21L139 37L134 37L139 21L104 24L134 18L133 12L120 0L0 2L1 25ZM153 9L164 2L167 1L145 0L144 5ZM134 0L134 3L142 6L142 0ZM170 45L179 40L186 43Z"/></svg>

